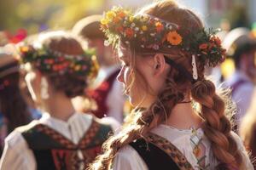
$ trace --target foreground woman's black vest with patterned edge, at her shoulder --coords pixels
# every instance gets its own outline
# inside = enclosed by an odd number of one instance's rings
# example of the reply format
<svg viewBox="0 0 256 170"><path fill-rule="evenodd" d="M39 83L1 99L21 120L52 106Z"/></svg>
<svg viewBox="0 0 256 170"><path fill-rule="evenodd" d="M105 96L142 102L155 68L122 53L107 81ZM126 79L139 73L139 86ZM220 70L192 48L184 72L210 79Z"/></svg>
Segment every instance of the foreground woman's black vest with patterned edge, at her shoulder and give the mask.
<svg viewBox="0 0 256 170"><path fill-rule="evenodd" d="M145 139L130 143L149 170L194 170L183 153L167 139L148 133Z"/></svg>

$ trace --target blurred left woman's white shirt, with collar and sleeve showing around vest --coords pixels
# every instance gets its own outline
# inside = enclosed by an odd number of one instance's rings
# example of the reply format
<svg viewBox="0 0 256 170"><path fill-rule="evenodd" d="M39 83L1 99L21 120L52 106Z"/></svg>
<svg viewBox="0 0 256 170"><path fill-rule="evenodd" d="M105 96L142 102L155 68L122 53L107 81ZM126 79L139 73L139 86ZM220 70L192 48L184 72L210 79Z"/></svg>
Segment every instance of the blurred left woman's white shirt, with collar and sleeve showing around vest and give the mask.
<svg viewBox="0 0 256 170"><path fill-rule="evenodd" d="M67 122L55 119L44 113L43 117L30 124L42 123L61 133L74 144L79 143L79 139L84 137L84 133L89 129L93 116L75 113ZM113 130L119 127L119 123L111 118L103 118L102 123L110 124ZM32 150L28 148L26 140L20 133L18 127L5 139L3 156L0 161L1 170L35 170L37 164Z"/></svg>

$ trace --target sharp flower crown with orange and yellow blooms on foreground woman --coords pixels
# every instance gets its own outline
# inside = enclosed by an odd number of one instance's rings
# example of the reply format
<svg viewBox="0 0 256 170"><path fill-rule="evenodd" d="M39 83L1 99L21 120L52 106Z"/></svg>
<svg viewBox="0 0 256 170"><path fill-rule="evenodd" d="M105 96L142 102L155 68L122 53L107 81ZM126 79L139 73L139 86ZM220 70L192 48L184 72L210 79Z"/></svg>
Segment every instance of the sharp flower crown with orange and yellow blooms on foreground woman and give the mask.
<svg viewBox="0 0 256 170"><path fill-rule="evenodd" d="M120 38L125 43L137 42L140 48L181 48L197 55L204 65L216 66L224 61L225 50L221 47L220 39L215 36L216 31L184 32L181 26L160 20L148 14L133 14L121 7L113 7L104 14L101 20L102 31L108 37L106 45L117 47Z"/></svg>

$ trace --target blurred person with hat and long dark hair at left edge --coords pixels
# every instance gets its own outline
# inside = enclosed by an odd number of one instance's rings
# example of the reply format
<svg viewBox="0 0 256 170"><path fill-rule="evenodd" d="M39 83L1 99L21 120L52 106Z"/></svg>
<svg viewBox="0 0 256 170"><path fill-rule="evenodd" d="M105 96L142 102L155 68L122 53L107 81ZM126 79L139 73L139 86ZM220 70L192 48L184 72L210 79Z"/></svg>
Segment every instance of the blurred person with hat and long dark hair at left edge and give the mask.
<svg viewBox="0 0 256 170"><path fill-rule="evenodd" d="M32 115L26 100L20 91L20 69L17 59L7 54L4 48L0 52L0 145L15 127L32 121Z"/></svg>

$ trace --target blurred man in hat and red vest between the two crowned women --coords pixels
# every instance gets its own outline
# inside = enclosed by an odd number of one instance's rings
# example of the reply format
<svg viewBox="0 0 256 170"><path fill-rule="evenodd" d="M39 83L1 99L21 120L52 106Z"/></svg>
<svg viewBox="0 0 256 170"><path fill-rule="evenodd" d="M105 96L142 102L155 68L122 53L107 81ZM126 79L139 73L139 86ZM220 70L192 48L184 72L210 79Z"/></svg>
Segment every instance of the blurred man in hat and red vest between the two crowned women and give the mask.
<svg viewBox="0 0 256 170"><path fill-rule="evenodd" d="M73 33L87 39L90 48L96 49L96 57L99 61L100 71L94 88L88 94L96 101L96 111L92 111L96 116L113 116L117 121L123 122L123 111L125 98L123 87L116 80L119 74L119 65L113 56L111 47L104 45L104 34L101 31L102 15L91 15L79 20L73 26Z"/></svg>

